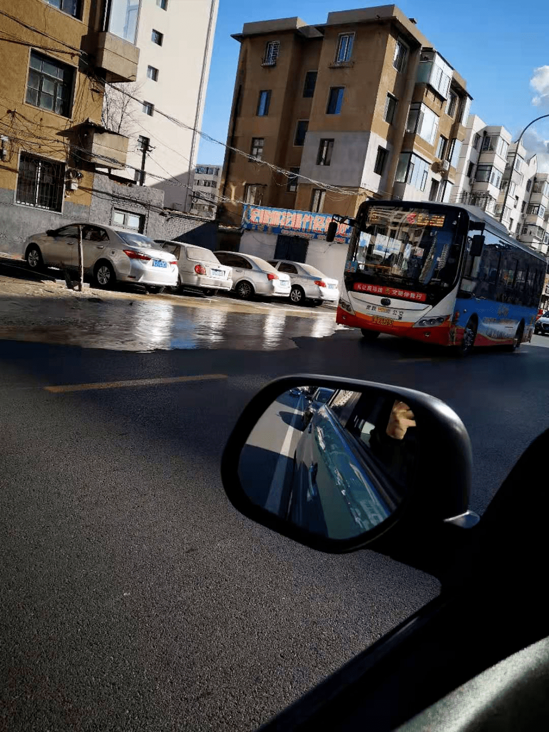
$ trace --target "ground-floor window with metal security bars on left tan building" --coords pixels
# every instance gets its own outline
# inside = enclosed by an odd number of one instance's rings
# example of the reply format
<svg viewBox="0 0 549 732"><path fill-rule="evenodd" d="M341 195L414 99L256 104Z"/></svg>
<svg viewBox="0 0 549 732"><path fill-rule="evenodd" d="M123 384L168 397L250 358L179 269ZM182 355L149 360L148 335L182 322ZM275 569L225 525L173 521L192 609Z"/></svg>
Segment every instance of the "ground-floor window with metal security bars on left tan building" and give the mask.
<svg viewBox="0 0 549 732"><path fill-rule="evenodd" d="M37 209L61 211L64 164L22 152L15 200Z"/></svg>

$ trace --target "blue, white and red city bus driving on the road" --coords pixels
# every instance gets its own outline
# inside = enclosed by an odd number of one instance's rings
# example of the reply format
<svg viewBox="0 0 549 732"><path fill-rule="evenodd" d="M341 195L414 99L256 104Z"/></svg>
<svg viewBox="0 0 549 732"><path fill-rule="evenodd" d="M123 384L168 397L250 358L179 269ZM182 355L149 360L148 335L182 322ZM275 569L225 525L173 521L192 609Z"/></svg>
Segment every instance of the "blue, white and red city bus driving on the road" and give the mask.
<svg viewBox="0 0 549 732"><path fill-rule="evenodd" d="M547 262L481 209L365 201L350 223L337 323L463 354L531 339Z"/></svg>

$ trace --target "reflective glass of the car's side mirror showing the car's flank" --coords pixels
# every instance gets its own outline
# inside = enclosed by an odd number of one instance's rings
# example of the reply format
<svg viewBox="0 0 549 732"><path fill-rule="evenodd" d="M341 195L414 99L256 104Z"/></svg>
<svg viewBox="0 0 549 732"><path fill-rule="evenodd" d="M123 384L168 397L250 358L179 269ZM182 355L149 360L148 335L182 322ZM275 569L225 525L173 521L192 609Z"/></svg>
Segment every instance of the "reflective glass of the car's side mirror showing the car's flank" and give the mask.
<svg viewBox="0 0 549 732"><path fill-rule="evenodd" d="M410 406L391 392L296 386L258 420L239 477L254 504L315 534L350 539L403 500L420 434Z"/></svg>

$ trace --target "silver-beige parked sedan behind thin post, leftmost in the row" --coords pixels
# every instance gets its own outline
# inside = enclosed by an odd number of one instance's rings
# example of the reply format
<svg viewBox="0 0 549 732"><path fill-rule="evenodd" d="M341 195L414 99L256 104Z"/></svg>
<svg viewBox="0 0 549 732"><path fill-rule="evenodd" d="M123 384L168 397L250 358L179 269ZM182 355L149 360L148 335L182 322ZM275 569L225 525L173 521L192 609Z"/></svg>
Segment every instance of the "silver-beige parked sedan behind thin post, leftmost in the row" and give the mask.
<svg viewBox="0 0 549 732"><path fill-rule="evenodd" d="M82 227L84 276L91 278L95 287L111 288L116 282L130 282L158 292L177 284L173 255L148 236L88 223L69 224L29 236L25 242L29 267L76 269L78 226Z"/></svg>

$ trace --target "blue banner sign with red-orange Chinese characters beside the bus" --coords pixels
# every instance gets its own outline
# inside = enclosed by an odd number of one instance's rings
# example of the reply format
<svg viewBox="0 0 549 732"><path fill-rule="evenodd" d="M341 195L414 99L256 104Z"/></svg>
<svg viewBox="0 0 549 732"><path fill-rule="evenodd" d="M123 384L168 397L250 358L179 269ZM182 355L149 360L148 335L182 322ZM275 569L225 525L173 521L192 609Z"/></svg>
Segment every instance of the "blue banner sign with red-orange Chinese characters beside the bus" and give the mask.
<svg viewBox="0 0 549 732"><path fill-rule="evenodd" d="M269 206L244 206L242 228L265 231L268 234L305 236L307 239L326 239L332 214L313 214L294 209L271 209ZM335 242L349 244L353 228L348 224L337 225Z"/></svg>

